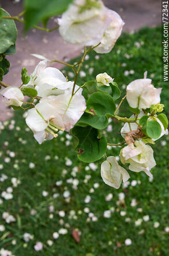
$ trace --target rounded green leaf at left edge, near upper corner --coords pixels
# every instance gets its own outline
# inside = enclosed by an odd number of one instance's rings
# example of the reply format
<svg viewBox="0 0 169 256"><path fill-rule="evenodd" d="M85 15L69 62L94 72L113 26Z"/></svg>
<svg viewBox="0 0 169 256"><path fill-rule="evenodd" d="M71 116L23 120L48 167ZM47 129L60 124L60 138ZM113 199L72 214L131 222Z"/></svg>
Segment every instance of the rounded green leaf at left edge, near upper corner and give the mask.
<svg viewBox="0 0 169 256"><path fill-rule="evenodd" d="M10 16L6 10L1 8L3 16ZM17 38L17 29L12 19L0 20L0 54L6 52L11 45L15 44Z"/></svg>

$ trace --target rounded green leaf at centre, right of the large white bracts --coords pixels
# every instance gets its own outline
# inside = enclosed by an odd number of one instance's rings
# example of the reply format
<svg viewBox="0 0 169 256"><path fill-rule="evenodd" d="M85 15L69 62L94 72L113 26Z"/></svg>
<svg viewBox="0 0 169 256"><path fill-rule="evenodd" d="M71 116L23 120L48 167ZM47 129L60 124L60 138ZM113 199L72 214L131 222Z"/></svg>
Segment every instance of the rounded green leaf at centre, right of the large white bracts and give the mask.
<svg viewBox="0 0 169 256"><path fill-rule="evenodd" d="M106 93L93 93L86 102L87 109L92 108L97 116L104 116L107 113L113 115L116 106L111 95Z"/></svg>

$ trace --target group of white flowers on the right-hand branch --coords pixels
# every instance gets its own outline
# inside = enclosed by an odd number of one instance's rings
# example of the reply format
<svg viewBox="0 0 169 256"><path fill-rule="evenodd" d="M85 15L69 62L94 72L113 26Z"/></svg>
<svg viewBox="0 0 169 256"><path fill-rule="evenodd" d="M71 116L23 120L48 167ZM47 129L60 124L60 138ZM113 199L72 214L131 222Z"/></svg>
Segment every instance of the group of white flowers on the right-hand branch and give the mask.
<svg viewBox="0 0 169 256"><path fill-rule="evenodd" d="M141 112L137 116L137 120L144 116L142 109L148 109L152 105L159 104L161 88L157 89L151 84L150 79L138 79L134 80L127 86L127 101L131 108L141 109ZM149 115L149 114L148 114ZM130 119L135 118L132 115ZM148 120L156 120L161 126L161 134L158 138L164 134L168 134L168 130L164 129L163 124L155 115L153 117L149 115ZM136 120L135 120L136 121ZM121 134L123 138L126 138L126 134L132 131L136 131L139 125L137 122L125 123L122 127ZM158 139L156 138L156 140ZM155 141L153 139L152 141ZM126 141L127 142L127 141ZM150 170L156 165L156 161L153 157L153 150L150 145L146 145L142 137L138 137L134 142L128 143L120 151L120 161L125 164L129 163L129 170L133 172L145 172L150 178L153 177ZM129 179L128 172L117 163L115 157L108 157L101 165L101 176L106 184L115 189L119 189L120 184L126 182Z"/></svg>

